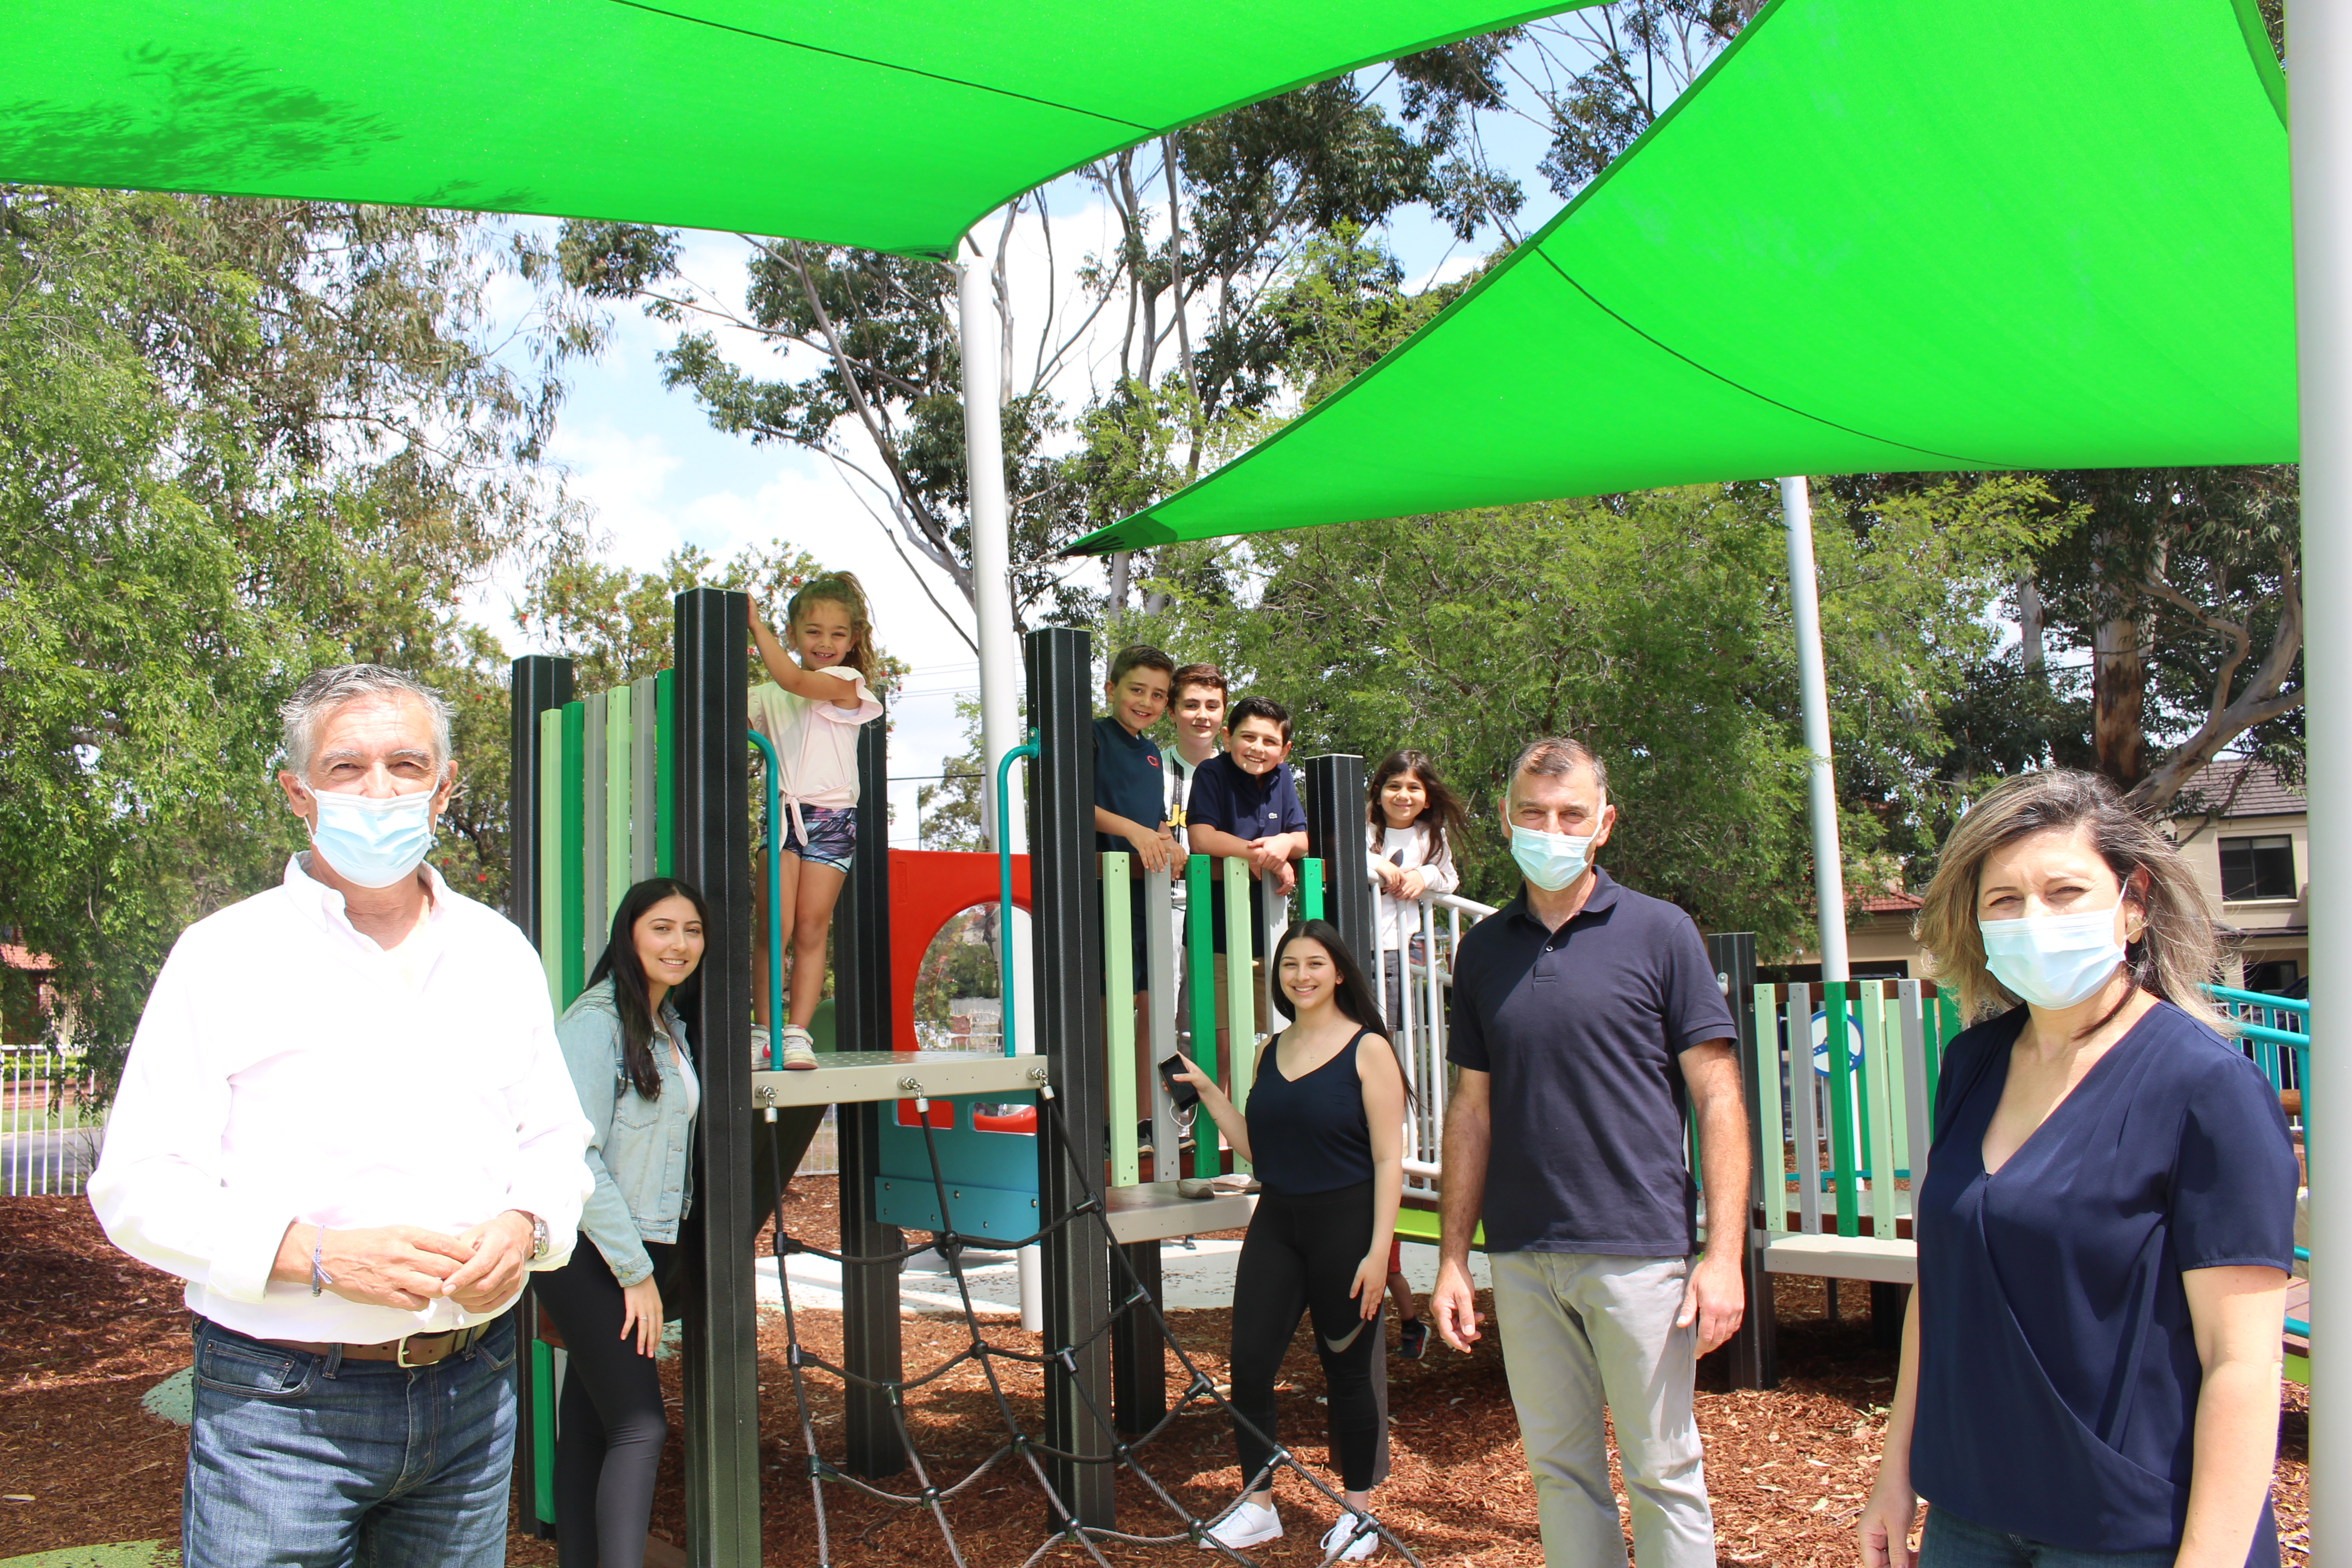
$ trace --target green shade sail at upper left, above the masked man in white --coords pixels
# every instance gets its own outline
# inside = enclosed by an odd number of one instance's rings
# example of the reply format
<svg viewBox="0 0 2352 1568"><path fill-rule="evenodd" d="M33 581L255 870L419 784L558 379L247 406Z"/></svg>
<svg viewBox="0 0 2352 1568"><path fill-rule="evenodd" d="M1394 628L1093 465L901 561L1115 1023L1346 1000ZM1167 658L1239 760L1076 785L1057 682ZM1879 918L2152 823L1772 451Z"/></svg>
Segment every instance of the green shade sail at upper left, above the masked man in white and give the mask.
<svg viewBox="0 0 2352 1568"><path fill-rule="evenodd" d="M1103 153L1578 2L12 0L0 179L946 256Z"/></svg>

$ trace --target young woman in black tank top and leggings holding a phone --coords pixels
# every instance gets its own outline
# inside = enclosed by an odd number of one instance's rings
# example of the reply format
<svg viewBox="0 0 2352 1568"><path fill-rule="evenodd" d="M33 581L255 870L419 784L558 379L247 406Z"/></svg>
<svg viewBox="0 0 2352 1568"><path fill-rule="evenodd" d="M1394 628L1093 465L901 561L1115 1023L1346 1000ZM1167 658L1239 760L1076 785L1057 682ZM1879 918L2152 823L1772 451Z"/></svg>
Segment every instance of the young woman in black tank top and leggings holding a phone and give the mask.
<svg viewBox="0 0 2352 1568"><path fill-rule="evenodd" d="M1324 1533L1322 1554L1352 1563L1381 1549L1369 1507L1371 1488L1388 1479L1388 1340L1378 1319L1404 1194L1404 1070L1338 929L1294 924L1270 969L1277 1006L1294 1023L1258 1053L1249 1114L1200 1067L1176 1074L1200 1091L1263 1187L1232 1281L1232 1436L1244 1495L1209 1533L1235 1552L1282 1535L1268 1469L1275 1378L1301 1314L1312 1314L1331 1455L1348 1488L1348 1512Z"/></svg>

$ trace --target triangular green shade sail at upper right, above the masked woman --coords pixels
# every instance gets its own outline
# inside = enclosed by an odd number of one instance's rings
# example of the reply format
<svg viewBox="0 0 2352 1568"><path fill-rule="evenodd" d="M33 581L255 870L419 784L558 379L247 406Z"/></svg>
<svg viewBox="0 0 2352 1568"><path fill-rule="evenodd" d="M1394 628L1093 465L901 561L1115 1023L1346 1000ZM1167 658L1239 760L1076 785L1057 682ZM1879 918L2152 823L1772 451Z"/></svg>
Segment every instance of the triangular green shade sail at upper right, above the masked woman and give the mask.
<svg viewBox="0 0 2352 1568"><path fill-rule="evenodd" d="M1788 473L2296 456L2251 0L1778 0L1566 212L1075 550Z"/></svg>

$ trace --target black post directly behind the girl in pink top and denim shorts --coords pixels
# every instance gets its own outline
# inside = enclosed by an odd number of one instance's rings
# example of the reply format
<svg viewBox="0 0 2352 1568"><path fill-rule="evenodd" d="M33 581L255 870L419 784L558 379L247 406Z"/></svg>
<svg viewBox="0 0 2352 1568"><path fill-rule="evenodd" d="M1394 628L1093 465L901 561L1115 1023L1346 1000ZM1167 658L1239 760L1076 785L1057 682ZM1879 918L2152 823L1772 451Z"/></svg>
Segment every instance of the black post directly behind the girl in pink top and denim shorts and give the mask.
<svg viewBox="0 0 2352 1568"><path fill-rule="evenodd" d="M833 1044L837 1051L889 1051L889 722L858 726L858 853L833 914ZM896 1225L875 1220L875 1145L882 1117L896 1100L835 1107L840 1138L840 1251L877 1258L906 1246ZM858 1378L896 1382L906 1375L898 1335L898 1269L889 1262L842 1267L842 1366ZM889 1394L847 1382L844 1465L880 1481L906 1469Z"/></svg>

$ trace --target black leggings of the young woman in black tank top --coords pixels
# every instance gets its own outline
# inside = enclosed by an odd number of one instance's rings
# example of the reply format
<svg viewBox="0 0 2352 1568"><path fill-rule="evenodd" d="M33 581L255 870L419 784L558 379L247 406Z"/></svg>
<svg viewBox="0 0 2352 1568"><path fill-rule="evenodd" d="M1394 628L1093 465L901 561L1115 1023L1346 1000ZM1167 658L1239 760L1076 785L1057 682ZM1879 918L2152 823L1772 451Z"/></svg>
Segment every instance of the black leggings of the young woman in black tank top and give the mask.
<svg viewBox="0 0 2352 1568"><path fill-rule="evenodd" d="M1312 1316L1331 1401L1331 1460L1350 1493L1388 1479L1385 1324L1367 1321L1348 1295L1369 1251L1371 1182L1305 1197L1261 1192L1232 1281L1235 1415L1275 1439L1275 1378L1298 1319ZM1275 1450L1242 1420L1232 1422L1232 1443L1242 1453L1242 1486L1251 1486Z"/></svg>

